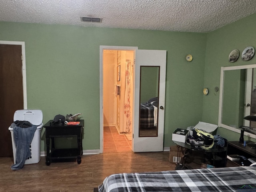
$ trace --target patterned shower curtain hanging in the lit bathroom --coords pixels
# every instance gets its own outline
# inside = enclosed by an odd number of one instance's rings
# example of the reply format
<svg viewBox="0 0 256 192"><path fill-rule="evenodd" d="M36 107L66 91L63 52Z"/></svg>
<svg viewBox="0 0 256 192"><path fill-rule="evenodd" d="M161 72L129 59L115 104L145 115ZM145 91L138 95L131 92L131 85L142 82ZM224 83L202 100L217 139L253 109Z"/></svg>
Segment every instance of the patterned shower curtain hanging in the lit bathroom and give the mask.
<svg viewBox="0 0 256 192"><path fill-rule="evenodd" d="M131 87L132 87L132 62L126 60L125 64L125 91L124 91L124 130L129 133L132 125L131 114Z"/></svg>

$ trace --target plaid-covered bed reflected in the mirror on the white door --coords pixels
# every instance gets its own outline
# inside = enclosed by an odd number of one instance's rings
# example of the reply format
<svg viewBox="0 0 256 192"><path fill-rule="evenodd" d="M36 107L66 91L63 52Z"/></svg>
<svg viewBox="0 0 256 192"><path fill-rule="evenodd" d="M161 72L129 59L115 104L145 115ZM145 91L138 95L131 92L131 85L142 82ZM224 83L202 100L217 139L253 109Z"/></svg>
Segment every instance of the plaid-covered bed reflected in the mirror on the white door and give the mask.
<svg viewBox="0 0 256 192"><path fill-rule="evenodd" d="M149 103L140 104L140 128L154 127L154 106Z"/></svg>

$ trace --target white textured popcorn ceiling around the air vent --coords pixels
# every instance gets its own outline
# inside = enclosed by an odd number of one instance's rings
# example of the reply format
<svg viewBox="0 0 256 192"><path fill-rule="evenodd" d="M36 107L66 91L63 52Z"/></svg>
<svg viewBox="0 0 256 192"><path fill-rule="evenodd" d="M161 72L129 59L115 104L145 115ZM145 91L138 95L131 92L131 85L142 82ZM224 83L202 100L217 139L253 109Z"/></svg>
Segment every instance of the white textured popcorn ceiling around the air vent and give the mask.
<svg viewBox="0 0 256 192"><path fill-rule="evenodd" d="M210 32L255 12L256 0L0 0L0 21L179 32Z"/></svg>

